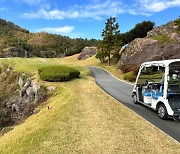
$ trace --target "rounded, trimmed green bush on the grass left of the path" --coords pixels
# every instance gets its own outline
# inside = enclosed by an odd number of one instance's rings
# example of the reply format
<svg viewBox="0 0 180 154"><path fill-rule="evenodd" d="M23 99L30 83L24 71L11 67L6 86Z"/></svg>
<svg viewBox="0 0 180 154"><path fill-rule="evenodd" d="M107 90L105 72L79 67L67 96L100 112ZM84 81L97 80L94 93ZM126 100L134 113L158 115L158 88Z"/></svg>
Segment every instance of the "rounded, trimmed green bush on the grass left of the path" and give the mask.
<svg viewBox="0 0 180 154"><path fill-rule="evenodd" d="M38 69L38 74L41 80L58 82L78 78L80 72L72 67L52 65Z"/></svg>

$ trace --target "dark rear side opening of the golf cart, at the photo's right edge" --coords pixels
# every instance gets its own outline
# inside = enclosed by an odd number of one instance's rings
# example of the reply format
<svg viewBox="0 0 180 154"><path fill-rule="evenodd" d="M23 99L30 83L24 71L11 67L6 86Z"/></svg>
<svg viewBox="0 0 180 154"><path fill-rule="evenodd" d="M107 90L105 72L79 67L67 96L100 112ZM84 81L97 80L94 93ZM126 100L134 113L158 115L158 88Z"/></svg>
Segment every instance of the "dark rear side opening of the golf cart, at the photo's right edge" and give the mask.
<svg viewBox="0 0 180 154"><path fill-rule="evenodd" d="M173 62L169 65L167 94L180 95L180 62Z"/></svg>

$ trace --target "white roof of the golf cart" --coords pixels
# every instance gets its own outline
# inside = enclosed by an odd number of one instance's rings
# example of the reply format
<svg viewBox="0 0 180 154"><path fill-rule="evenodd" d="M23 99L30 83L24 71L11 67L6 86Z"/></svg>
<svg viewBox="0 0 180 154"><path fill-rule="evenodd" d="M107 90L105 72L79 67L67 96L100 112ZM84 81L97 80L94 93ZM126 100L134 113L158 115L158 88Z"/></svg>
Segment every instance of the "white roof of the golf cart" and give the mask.
<svg viewBox="0 0 180 154"><path fill-rule="evenodd" d="M169 64L171 64L173 62L180 62L180 59L149 61L149 62L142 63L141 66L152 66L152 65L169 66Z"/></svg>

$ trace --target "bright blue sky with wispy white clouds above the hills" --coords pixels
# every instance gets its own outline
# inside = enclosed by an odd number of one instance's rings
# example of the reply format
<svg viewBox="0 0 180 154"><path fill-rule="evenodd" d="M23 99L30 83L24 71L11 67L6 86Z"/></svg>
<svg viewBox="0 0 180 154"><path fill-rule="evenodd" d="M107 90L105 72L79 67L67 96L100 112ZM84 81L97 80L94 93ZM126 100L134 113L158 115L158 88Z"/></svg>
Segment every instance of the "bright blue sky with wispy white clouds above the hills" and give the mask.
<svg viewBox="0 0 180 154"><path fill-rule="evenodd" d="M180 0L0 0L0 18L31 32L101 39L107 18L121 33L151 20L156 26L180 16Z"/></svg>

